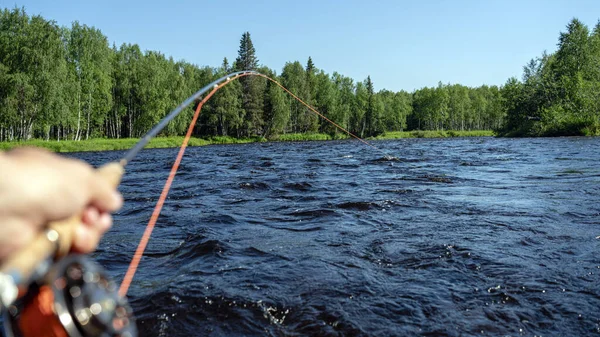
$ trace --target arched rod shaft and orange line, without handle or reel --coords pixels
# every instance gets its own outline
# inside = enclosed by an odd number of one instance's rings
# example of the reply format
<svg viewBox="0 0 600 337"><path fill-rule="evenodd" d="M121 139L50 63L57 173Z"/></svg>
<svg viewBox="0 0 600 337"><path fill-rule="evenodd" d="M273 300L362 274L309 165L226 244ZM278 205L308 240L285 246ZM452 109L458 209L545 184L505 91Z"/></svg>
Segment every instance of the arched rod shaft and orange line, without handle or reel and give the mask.
<svg viewBox="0 0 600 337"><path fill-rule="evenodd" d="M167 178L167 181L165 182L165 185L163 186L163 190L162 190L162 192L160 194L160 197L159 197L159 199L158 199L158 201L156 203L156 206L154 207L154 211L152 212L152 216L150 217L150 220L148 221L148 224L146 225L146 229L144 230L144 234L142 235L142 238L140 239L140 242L139 242L138 247L137 247L137 249L136 249L136 251L135 251L135 253L133 255L133 258L132 258L131 263L130 263L128 269L127 269L125 277L123 278L123 282L121 283L121 286L119 288L119 295L120 296L124 297L127 294L127 291L129 290L129 286L131 285L131 281L133 280L135 272L136 272L136 270L137 270L137 268L139 266L141 258L142 258L143 254L144 254L144 250L146 249L146 246L148 245L148 241L150 240L150 236L152 235L152 231L154 230L154 226L156 225L156 221L158 220L158 217L160 216L160 212L162 210L162 207L163 207L163 205L165 203L165 200L167 199L167 195L169 194L169 190L171 189L171 184L173 183L173 180L175 179L175 174L177 173L177 170L179 169L179 164L181 163L181 160L182 160L183 155L185 153L185 150L187 148L187 144L188 144L188 142L189 142L189 140L190 140L190 138L192 136L192 133L194 131L194 127L195 127L196 122L198 120L198 116L200 115L200 110L202 109L202 106L219 89L221 89L225 85L231 83L231 81L236 80L236 79L238 79L240 77L244 77L244 76L259 76L259 77L263 77L263 78L265 78L265 79L267 79L267 80L275 83L277 86L279 86L281 89L283 89L289 95L291 95L298 102L300 102L304 106L306 106L310 111L312 111L313 113L317 114L319 117L323 118L325 121L331 123L333 126L335 126L336 128L338 128L339 130L341 130L344 133L346 133L347 135L349 135L349 136L351 136L351 137L359 140L363 144L365 144L365 145L367 145L367 146L369 146L369 147L371 147L371 148L373 148L373 149L375 149L377 151L380 151L380 152L384 153L386 159L388 159L388 158L389 159L395 158L395 157L389 155L386 151L384 151L384 150L382 150L382 149L374 146L373 144L370 144L366 140L358 137L357 135L355 135L355 134L351 133L350 131L346 130L345 128L341 127L340 125L338 125L334 121L332 121L329 118L325 117L323 114L319 113L315 108L313 108L312 106L310 106L308 103L304 102L302 99L300 99L298 96L296 96L295 94L293 94L290 90L288 90L282 84L280 84L276 80L270 78L269 76L263 75L263 74L258 73L256 71L239 71L239 72L235 72L235 73L231 73L229 75L223 76L223 77L221 77L221 78L219 78L219 79L211 82L210 84L206 85L202 89L198 90L196 93L194 93L188 99L186 99L185 101L183 101L173 111L171 111L163 120L161 120L155 127L153 127L146 135L144 135L144 137L142 137L139 140L139 142L133 148L131 148L125 154L125 156L120 160L120 164L123 167L126 166L133 159L133 157L135 157L135 155L141 149L143 149L152 138L154 138L160 131L162 131L162 129L171 120L173 120L175 117L177 117L177 115L179 115L179 113L181 113L183 111L183 109L185 109L192 102L196 101L204 93L206 93L206 92L208 92L210 90L210 92L198 103L198 106L196 107L196 111L194 113L194 117L192 118L192 121L190 122L190 125L188 127L187 133L186 133L185 138L183 140L183 143L181 144L181 147L179 148L179 152L177 154L177 158L175 159L175 162L173 163L173 166L171 167L171 171L169 173L169 177Z"/></svg>

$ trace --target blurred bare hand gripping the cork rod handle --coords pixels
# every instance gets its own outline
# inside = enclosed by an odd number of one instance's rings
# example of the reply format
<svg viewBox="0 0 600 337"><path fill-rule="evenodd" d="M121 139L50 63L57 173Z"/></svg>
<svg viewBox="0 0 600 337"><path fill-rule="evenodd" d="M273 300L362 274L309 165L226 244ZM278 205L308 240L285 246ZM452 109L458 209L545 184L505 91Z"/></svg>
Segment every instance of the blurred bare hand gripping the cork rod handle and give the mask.
<svg viewBox="0 0 600 337"><path fill-rule="evenodd" d="M0 152L0 262L51 221L82 215L73 250L93 251L121 195L85 162L35 148Z"/></svg>

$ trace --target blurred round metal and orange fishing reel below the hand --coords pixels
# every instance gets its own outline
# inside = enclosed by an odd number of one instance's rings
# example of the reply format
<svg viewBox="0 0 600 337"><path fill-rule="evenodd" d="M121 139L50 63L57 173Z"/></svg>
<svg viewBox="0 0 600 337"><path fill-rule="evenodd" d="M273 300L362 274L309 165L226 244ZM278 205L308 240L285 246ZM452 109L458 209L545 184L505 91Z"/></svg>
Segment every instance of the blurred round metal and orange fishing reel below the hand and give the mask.
<svg viewBox="0 0 600 337"><path fill-rule="evenodd" d="M136 337L127 300L84 255L59 260L4 314L6 337Z"/></svg>

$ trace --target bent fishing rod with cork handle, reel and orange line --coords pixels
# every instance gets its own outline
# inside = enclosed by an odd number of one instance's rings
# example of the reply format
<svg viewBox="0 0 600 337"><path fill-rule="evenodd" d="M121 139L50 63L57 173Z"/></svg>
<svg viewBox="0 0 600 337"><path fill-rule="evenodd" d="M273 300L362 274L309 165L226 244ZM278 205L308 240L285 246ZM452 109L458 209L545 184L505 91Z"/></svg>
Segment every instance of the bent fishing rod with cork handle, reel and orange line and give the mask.
<svg viewBox="0 0 600 337"><path fill-rule="evenodd" d="M4 332L7 337L137 336L133 311L125 295L158 220L200 110L217 90L244 76L259 76L275 83L339 130L389 157L385 151L328 119L266 75L256 71L238 71L223 76L202 87L173 109L119 161L98 168L102 179L106 179L116 189L127 164L170 121L199 100L177 158L120 288L117 290L116 283L106 271L89 257L71 252L75 230L81 223L81 215L49 223L46 230L27 247L0 265L0 311L4 316Z"/></svg>

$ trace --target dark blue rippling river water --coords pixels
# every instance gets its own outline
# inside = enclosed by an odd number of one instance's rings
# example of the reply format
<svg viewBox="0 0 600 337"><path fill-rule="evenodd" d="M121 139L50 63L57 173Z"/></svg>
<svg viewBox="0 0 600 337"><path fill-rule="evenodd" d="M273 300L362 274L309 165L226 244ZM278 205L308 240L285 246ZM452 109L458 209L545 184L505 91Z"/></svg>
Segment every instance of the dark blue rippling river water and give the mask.
<svg viewBox="0 0 600 337"><path fill-rule="evenodd" d="M600 138L375 144L400 160L188 149L129 292L142 335L600 334ZM128 167L96 254L119 281L176 151Z"/></svg>

